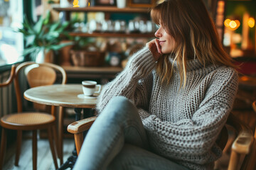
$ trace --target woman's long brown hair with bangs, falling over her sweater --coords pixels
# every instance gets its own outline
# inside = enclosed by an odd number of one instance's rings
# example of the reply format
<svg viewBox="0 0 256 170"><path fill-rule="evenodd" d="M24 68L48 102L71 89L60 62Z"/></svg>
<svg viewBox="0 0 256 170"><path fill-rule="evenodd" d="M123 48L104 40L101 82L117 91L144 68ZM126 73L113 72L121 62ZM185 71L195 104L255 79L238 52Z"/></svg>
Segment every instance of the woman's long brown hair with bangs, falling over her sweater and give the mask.
<svg viewBox="0 0 256 170"><path fill-rule="evenodd" d="M171 35L176 44L174 61L178 64L181 84L186 84L186 62L198 59L203 66L221 64L235 68L231 58L223 50L215 24L201 0L165 0L151 8L151 18ZM171 70L171 74L170 74ZM160 57L156 73L161 82L171 81L174 64L167 56Z"/></svg>

